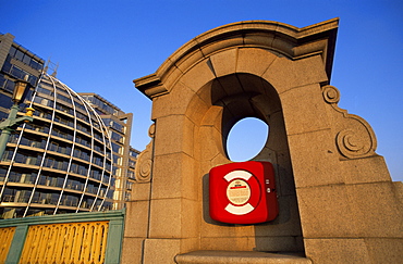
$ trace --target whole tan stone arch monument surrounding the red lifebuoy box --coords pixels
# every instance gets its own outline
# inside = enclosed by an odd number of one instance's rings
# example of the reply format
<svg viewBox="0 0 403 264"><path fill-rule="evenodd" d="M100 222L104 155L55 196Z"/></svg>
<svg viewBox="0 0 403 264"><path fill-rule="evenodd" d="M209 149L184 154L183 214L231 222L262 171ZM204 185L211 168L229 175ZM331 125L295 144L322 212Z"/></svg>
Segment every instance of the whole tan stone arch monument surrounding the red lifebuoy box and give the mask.
<svg viewBox="0 0 403 264"><path fill-rule="evenodd" d="M340 110L340 95L329 86L337 29L338 20L305 28L264 21L225 25L135 80L152 100L155 125L127 203L123 260L188 263L206 252L223 257L222 251L292 251L314 262L346 262L358 252L376 260L382 255L373 253L376 244L402 237L402 223L392 217L401 217L399 203L390 196L401 187L375 153L369 125ZM270 125L257 159L276 166L280 215L264 225L221 225L205 213L205 178L212 166L231 162L228 131L246 116ZM377 225L375 234L384 239L367 231L381 210L365 212L375 199L370 188L389 193L375 194L389 199L383 221L398 226L389 231Z"/></svg>

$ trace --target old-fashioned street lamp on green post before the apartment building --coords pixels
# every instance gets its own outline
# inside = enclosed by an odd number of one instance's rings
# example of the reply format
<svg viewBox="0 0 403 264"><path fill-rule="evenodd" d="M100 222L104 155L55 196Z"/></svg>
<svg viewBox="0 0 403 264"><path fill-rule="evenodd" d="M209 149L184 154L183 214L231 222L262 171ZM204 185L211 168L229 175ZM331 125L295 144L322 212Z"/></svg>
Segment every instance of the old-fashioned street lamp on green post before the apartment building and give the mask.
<svg viewBox="0 0 403 264"><path fill-rule="evenodd" d="M11 98L13 105L10 109L9 116L5 121L0 123L0 161L4 154L7 142L9 141L10 135L24 122L34 121L34 109L27 108L26 114L22 117L16 118L16 114L20 110L20 103L22 103L29 91L29 83L27 80L17 79L15 80L14 92Z"/></svg>

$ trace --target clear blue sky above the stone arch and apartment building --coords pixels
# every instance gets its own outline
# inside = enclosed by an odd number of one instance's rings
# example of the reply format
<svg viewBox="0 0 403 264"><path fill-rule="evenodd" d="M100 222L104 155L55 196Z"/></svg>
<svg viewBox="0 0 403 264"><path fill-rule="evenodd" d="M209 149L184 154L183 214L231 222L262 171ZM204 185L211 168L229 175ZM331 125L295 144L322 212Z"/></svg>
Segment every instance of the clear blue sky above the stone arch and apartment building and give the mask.
<svg viewBox="0 0 403 264"><path fill-rule="evenodd" d="M0 32L59 63L58 78L134 113L133 147L148 143L151 102L132 80L215 27L267 20L297 27L340 17L331 85L365 118L393 180L403 180L401 0L0 0Z"/></svg>

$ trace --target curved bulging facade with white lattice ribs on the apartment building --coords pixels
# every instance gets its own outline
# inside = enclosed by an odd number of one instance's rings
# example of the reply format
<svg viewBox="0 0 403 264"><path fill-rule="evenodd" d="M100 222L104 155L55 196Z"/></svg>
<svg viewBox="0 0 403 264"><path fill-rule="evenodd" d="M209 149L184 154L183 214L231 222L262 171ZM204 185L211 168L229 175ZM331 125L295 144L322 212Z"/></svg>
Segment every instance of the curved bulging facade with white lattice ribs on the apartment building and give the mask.
<svg viewBox="0 0 403 264"><path fill-rule="evenodd" d="M45 73L30 98L34 122L16 130L0 163L0 218L111 209L112 144L101 117Z"/></svg>

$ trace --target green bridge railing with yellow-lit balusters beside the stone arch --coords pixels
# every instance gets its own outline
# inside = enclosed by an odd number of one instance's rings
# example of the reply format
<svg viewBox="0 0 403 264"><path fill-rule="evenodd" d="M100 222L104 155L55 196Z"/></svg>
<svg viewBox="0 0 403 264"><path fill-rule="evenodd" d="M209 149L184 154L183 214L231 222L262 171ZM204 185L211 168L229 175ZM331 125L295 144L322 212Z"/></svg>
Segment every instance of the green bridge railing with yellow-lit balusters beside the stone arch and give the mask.
<svg viewBox="0 0 403 264"><path fill-rule="evenodd" d="M124 210L0 221L0 264L120 263Z"/></svg>

